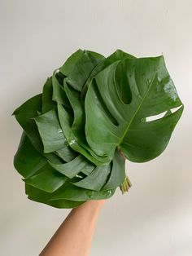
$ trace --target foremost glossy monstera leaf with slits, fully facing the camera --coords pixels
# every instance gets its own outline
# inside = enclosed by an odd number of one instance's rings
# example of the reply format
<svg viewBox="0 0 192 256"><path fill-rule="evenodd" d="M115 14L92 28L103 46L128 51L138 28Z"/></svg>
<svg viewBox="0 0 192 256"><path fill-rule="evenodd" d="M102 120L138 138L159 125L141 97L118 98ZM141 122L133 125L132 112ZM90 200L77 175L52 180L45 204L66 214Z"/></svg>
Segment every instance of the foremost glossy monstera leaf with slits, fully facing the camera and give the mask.
<svg viewBox="0 0 192 256"><path fill-rule="evenodd" d="M166 117L145 119L179 106ZM124 59L98 73L87 90L86 139L101 157L112 158L119 146L130 161L150 161L166 148L182 111L163 56Z"/></svg>

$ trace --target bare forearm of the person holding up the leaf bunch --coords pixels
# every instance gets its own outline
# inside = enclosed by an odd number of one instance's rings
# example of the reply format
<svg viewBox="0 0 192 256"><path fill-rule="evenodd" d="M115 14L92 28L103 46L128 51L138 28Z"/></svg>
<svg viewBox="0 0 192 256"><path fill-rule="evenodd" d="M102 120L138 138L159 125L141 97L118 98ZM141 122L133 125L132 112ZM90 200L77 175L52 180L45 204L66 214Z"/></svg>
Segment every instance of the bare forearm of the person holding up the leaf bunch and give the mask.
<svg viewBox="0 0 192 256"><path fill-rule="evenodd" d="M74 208L39 256L88 256L101 201L86 201Z"/></svg>

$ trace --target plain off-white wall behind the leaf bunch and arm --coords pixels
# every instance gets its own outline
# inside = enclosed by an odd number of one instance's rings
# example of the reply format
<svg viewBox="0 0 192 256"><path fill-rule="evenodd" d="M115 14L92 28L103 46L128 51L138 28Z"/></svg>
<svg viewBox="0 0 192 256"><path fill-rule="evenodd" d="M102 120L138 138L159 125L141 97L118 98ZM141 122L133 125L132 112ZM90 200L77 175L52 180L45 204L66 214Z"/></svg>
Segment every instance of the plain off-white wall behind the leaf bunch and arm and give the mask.
<svg viewBox="0 0 192 256"><path fill-rule="evenodd" d="M29 201L12 165L21 129L13 110L78 48L164 54L185 110L166 150L127 161L129 193L106 202L90 256L192 255L192 2L0 0L2 256L38 255L69 210Z"/></svg>

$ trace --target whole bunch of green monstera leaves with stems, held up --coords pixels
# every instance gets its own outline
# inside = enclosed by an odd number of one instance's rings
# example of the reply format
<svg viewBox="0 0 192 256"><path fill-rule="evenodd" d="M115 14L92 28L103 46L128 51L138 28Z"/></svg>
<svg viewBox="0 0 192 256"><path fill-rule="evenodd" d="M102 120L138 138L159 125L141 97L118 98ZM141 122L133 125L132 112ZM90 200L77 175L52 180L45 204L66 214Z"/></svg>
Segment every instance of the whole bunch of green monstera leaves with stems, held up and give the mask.
<svg viewBox="0 0 192 256"><path fill-rule="evenodd" d="M125 159L158 157L183 108L164 56L76 51L13 113L24 130L14 166L25 193L73 208L128 191Z"/></svg>

